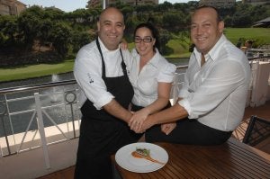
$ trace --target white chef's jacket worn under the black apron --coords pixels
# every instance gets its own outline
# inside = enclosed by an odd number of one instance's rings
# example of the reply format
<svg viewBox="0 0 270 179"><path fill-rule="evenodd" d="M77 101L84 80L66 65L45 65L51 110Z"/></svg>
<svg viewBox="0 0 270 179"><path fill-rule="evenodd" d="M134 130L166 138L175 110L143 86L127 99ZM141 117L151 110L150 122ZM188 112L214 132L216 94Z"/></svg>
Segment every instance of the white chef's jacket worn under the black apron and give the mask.
<svg viewBox="0 0 270 179"><path fill-rule="evenodd" d="M107 77L123 76L121 69L120 49L109 50L99 40L101 50L103 51L104 64ZM121 50L124 61L130 61L130 52ZM128 63L126 63L128 65ZM127 69L130 67L127 67ZM107 91L102 78L102 58L97 49L95 40L85 45L76 54L74 65L74 76L77 84L80 86L78 95L79 105L82 106L88 98L96 109L101 109L103 105L110 103L114 96Z"/></svg>

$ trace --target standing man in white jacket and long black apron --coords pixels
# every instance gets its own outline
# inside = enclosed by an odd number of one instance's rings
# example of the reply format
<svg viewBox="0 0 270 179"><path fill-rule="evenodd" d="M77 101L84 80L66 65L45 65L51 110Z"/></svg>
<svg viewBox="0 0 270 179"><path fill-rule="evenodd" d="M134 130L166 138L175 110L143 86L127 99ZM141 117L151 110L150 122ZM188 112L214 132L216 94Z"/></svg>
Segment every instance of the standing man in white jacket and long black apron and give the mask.
<svg viewBox="0 0 270 179"><path fill-rule="evenodd" d="M134 93L127 72L129 52L119 49L124 28L118 9L103 10L97 22L98 38L76 55L74 76L83 116L75 178L112 178L110 156L140 136L127 124Z"/></svg>

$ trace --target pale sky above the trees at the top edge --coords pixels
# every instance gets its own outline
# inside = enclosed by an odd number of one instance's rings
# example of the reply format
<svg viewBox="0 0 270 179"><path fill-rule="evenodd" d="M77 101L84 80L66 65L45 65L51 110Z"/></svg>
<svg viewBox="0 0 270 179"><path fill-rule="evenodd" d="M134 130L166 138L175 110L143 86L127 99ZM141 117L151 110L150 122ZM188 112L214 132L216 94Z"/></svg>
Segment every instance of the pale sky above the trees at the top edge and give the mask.
<svg viewBox="0 0 270 179"><path fill-rule="evenodd" d="M88 0L19 0L23 4L28 5L42 5L43 7L55 6L65 12L72 12L76 9L85 8ZM159 0L159 3L169 2L175 3L187 3L189 0Z"/></svg>

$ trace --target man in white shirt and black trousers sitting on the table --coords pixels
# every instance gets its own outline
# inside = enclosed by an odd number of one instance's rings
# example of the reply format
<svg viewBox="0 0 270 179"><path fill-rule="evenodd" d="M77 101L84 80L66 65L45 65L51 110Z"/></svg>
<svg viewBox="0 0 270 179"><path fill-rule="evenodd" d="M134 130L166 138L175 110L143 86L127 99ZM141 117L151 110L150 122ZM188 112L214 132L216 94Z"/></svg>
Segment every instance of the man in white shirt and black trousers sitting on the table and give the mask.
<svg viewBox="0 0 270 179"><path fill-rule="evenodd" d="M137 130L153 126L146 132L146 141L218 145L238 127L245 111L250 67L245 54L223 35L223 28L215 8L195 10L191 23L195 48L184 87L178 103L148 116ZM176 121L176 127L167 125L165 133L156 125L171 121Z"/></svg>

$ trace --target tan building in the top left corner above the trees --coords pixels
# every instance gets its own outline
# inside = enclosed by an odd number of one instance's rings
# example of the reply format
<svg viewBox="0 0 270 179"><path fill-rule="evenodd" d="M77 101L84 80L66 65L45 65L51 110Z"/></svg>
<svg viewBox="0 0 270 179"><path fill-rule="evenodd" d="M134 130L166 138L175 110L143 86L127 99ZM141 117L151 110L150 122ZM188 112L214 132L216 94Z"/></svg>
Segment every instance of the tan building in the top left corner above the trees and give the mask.
<svg viewBox="0 0 270 179"><path fill-rule="evenodd" d="M16 0L0 0L1 15L18 15L26 9L26 5Z"/></svg>

